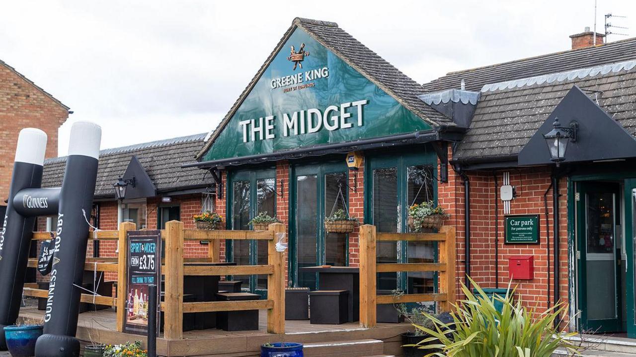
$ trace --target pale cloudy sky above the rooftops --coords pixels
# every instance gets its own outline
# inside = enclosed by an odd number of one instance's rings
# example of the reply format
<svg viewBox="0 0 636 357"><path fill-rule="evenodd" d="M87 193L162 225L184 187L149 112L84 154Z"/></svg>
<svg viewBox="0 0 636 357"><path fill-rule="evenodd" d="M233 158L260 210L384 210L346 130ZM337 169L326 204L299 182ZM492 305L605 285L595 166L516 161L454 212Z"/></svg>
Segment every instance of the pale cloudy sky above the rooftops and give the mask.
<svg viewBox="0 0 636 357"><path fill-rule="evenodd" d="M598 0L636 36L636 1ZM102 148L214 128L294 17L340 27L419 83L570 48L594 0L6 1L0 59L95 121ZM611 35L609 41L626 36Z"/></svg>

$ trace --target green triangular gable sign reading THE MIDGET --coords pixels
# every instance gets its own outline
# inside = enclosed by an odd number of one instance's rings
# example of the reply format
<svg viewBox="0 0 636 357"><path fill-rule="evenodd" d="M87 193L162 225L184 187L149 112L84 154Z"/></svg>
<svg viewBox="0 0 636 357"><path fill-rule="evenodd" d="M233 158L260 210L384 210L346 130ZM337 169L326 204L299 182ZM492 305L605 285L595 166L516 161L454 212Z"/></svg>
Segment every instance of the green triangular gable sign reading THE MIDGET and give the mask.
<svg viewBox="0 0 636 357"><path fill-rule="evenodd" d="M268 154L430 129L296 28L201 159Z"/></svg>

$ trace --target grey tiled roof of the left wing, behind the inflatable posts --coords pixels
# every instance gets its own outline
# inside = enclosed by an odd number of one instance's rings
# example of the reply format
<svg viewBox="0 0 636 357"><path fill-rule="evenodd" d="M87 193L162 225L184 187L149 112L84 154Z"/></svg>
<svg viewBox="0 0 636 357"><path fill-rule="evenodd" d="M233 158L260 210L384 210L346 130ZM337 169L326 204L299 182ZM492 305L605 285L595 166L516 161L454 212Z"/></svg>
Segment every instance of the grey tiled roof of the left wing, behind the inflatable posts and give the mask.
<svg viewBox="0 0 636 357"><path fill-rule="evenodd" d="M157 191L205 186L204 170L181 168L182 164L192 160L204 138L205 133L202 133L100 151L95 197L114 198L113 184L123 175L135 155ZM65 166L66 157L45 160L42 187L59 187Z"/></svg>

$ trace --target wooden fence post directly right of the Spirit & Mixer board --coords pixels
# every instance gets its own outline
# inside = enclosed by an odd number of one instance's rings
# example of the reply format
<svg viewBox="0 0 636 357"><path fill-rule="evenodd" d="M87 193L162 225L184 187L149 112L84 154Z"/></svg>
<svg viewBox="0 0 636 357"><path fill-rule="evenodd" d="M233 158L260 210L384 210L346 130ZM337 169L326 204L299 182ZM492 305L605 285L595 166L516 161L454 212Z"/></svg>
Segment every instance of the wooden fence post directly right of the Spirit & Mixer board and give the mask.
<svg viewBox="0 0 636 357"><path fill-rule="evenodd" d="M183 338L183 222L165 224L165 293L163 337Z"/></svg>

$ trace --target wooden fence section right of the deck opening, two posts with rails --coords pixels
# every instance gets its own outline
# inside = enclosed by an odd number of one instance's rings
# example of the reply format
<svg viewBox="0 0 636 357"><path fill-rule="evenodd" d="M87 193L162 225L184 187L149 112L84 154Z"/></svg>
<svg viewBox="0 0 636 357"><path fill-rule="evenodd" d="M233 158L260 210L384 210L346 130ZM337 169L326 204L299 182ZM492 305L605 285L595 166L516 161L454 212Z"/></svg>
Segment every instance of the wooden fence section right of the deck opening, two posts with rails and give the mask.
<svg viewBox="0 0 636 357"><path fill-rule="evenodd" d="M360 227L360 325L375 327L377 304L401 302L439 302L442 310L448 310L455 302L455 227L444 226L438 233L378 233L375 226ZM391 263L378 264L376 249L378 241L437 241L437 263ZM438 292L405 294L399 296L377 296L376 274L397 271L438 272Z"/></svg>

